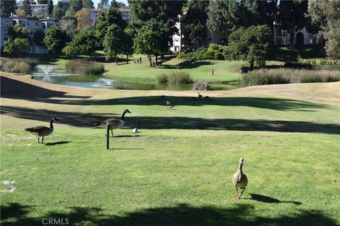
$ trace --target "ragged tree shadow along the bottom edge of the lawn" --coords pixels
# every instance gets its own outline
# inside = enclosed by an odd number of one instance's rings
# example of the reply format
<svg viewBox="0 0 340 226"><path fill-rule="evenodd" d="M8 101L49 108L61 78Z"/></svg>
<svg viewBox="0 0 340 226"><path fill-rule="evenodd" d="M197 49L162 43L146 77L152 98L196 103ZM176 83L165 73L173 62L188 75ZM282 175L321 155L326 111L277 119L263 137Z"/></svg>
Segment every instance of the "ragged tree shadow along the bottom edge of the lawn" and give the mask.
<svg viewBox="0 0 340 226"><path fill-rule="evenodd" d="M42 219L55 219L69 222L69 225L336 225L336 220L324 215L321 210L312 211L295 210L290 215L278 217L262 217L256 215L254 205L239 203L233 208L217 206L190 206L179 203L175 206L145 208L123 216L106 214L108 210L91 207L69 207L64 211L50 211L44 215L30 214L30 206L21 206L18 203L1 204L1 225L42 225ZM106 212L106 213L105 213ZM33 215L33 216L32 216ZM46 221L46 220L45 220Z"/></svg>

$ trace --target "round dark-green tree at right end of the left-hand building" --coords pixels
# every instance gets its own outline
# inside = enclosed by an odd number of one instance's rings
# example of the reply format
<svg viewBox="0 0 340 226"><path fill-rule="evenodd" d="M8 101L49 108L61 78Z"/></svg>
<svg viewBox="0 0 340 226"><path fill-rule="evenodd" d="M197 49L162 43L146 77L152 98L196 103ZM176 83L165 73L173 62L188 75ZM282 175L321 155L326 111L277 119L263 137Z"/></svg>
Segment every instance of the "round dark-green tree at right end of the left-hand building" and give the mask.
<svg viewBox="0 0 340 226"><path fill-rule="evenodd" d="M65 47L66 43L69 42L70 38L67 35L66 30L59 29L57 26L52 26L47 29L44 38L44 44L47 49L55 52L61 53L62 48Z"/></svg>

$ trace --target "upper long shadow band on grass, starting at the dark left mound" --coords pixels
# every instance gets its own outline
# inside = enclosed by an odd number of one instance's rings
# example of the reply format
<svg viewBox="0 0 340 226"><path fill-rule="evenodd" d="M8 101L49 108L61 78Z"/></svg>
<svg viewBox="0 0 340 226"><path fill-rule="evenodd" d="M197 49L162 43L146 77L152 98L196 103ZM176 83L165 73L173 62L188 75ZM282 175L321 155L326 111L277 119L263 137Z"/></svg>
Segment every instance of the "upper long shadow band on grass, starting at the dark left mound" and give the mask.
<svg viewBox="0 0 340 226"><path fill-rule="evenodd" d="M32 91L34 90L34 92ZM205 95L205 93L203 93ZM30 100L35 102L47 102L61 105L166 105L165 100L159 100L159 96L142 96L142 97L123 97L105 100L89 100L90 96L67 95L67 93L40 88L15 79L1 76L1 97L11 99ZM60 97L61 99L56 99ZM302 100L291 100L272 97L214 97L210 100L198 101L197 95L196 106L201 105L219 105L219 106L245 106L263 109L274 109L278 111L314 111L316 108L325 108L329 105L323 105L314 102ZM77 100L75 100L77 99ZM173 105L190 105L192 101L183 100L182 97L167 97ZM190 99L191 100L191 99Z"/></svg>

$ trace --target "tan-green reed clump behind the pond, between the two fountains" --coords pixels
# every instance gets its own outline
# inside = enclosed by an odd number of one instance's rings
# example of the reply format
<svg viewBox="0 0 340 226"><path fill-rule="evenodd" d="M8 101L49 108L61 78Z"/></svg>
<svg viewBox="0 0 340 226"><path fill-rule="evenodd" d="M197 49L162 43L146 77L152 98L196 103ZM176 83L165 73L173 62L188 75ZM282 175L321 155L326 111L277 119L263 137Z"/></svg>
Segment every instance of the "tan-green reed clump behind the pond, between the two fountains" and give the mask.
<svg viewBox="0 0 340 226"><path fill-rule="evenodd" d="M72 59L67 61L66 69L69 73L84 73L86 75L96 75L104 72L103 64L83 59Z"/></svg>

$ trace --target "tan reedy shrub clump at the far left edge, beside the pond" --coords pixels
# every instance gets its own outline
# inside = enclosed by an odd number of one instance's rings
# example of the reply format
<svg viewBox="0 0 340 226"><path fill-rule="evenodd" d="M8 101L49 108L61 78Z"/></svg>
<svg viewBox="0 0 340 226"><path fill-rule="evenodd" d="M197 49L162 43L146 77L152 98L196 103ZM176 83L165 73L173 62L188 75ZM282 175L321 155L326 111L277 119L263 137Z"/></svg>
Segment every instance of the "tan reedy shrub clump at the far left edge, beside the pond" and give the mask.
<svg viewBox="0 0 340 226"><path fill-rule="evenodd" d="M10 73L30 73L37 64L39 64L39 60L36 58L1 59L0 71Z"/></svg>

